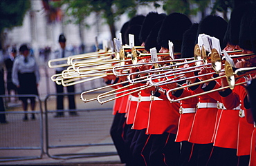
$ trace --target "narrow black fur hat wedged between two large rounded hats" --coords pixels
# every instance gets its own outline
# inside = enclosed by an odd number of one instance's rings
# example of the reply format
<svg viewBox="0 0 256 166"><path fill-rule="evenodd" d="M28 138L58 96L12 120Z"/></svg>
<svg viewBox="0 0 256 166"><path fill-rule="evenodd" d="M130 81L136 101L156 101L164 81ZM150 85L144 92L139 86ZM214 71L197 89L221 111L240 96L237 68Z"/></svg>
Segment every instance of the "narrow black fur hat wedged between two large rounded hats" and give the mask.
<svg viewBox="0 0 256 166"><path fill-rule="evenodd" d="M198 27L198 23L193 23L190 29L184 32L181 45L181 58L194 57L194 42L197 38Z"/></svg>

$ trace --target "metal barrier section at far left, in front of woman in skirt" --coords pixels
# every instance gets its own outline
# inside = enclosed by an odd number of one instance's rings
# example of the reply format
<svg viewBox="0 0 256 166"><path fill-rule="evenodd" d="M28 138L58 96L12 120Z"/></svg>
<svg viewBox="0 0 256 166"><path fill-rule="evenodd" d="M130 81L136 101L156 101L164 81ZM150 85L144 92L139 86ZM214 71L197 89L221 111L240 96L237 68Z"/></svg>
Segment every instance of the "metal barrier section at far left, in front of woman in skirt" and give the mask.
<svg viewBox="0 0 256 166"><path fill-rule="evenodd" d="M0 125L0 162L42 158L44 154L43 110L39 96L0 95L0 98L8 97L35 97L39 103L39 110L0 112L8 121L7 124ZM23 122L22 115L25 113L35 114L36 119Z"/></svg>

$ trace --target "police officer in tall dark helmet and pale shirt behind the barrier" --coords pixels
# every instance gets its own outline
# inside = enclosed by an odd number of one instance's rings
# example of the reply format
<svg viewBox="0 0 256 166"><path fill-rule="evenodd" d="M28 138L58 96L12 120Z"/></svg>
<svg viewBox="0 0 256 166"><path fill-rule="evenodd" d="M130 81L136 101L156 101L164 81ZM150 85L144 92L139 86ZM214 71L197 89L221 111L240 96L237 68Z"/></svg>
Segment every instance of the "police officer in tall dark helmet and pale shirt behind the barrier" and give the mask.
<svg viewBox="0 0 256 166"><path fill-rule="evenodd" d="M64 57L68 57L68 56L72 56L73 52L72 50L66 48L66 37L64 36L64 34L60 34L59 37L59 43L60 43L60 48L58 50L56 50L53 54L54 54L54 58L55 59L60 59L60 58L64 58ZM62 68L56 68L56 74L60 74L62 73L63 70L66 70L65 67ZM57 114L55 115L55 118L59 118L59 117L64 117L64 104L63 104L63 99L64 96L62 95L62 93L64 92L64 87L62 85L56 85L56 91L57 94ZM68 93L73 93L75 92L75 85L71 85L71 86L67 86L67 91ZM69 114L71 116L77 116L77 112L75 112L75 95L74 94L68 94L68 108L69 108Z"/></svg>

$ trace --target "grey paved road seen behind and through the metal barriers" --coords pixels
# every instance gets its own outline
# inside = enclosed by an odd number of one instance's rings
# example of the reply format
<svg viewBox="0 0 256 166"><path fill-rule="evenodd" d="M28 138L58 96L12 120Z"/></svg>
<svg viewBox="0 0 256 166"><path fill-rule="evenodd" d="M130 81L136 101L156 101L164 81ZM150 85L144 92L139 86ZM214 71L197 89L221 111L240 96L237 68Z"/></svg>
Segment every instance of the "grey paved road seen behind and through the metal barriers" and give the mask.
<svg viewBox="0 0 256 166"><path fill-rule="evenodd" d="M41 68L41 72L44 68ZM51 71L52 72L52 71ZM44 78L44 77L43 77ZM43 83L46 81L46 77L41 81L39 85L40 98L42 100L43 112L44 108L44 97L47 95L47 90L51 93L55 93L54 84L46 85ZM95 81L93 86L100 86L102 83L100 81ZM78 85L77 85L78 86ZM77 88L77 91L81 91L82 85ZM85 88L86 87L86 88ZM90 89L91 83L86 83L84 89ZM89 97L97 96L97 94L90 94ZM109 129L111 122L113 120L113 115L111 114L111 107L113 102L105 103L100 105L98 102L93 101L90 103L83 103L80 100L80 95L75 97L77 110L79 116L68 116L68 112L65 112L64 118L54 118L54 114L48 114L48 138L52 145L76 145L77 143L113 143L109 136ZM65 102L65 107L67 107L67 98ZM49 98L47 101L48 110L55 110L55 97ZM14 107L15 106L15 107ZM109 108L102 112L101 108ZM39 110L39 105L37 105L37 110ZM91 111L90 111L91 110ZM21 103L14 102L12 98L12 103L9 103L9 109L7 112L22 111ZM37 114L37 119L35 121L22 121L23 114L8 114L7 119L9 121L6 125L0 125L0 147L6 147L10 144L10 147L21 147L28 145L33 145L38 143L39 138L39 114ZM45 116L43 116L45 119ZM46 140L46 130L44 123L44 141ZM61 136L61 134L64 134ZM61 137L58 137L61 136ZM71 142L68 142L68 136L73 136ZM46 143L44 142L44 152L46 152ZM0 157L3 156L24 156L30 154L31 151L28 150L0 150ZM37 155L38 151L35 152ZM113 145L108 146L91 146L91 147L75 147L75 148L58 148L51 149L49 153L55 154L91 154L91 153L116 153L116 148ZM0 159L1 159L0 158ZM83 158L73 158L73 159L53 159L49 158L46 154L43 154L42 158L35 160L17 160L0 162L0 165L123 165L120 163L120 159L117 155L102 156L102 157L83 157Z"/></svg>

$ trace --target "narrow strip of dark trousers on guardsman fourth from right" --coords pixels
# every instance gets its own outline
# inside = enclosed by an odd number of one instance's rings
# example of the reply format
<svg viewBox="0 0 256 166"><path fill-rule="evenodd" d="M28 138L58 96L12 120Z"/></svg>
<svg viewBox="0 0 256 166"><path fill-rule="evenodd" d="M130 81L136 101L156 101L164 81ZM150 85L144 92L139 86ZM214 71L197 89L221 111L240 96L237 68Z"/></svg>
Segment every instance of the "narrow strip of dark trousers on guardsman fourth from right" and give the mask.
<svg viewBox="0 0 256 166"><path fill-rule="evenodd" d="M192 154L193 143L188 141L181 142L181 156L179 159L179 165L185 166L188 165L190 160L190 155Z"/></svg>

